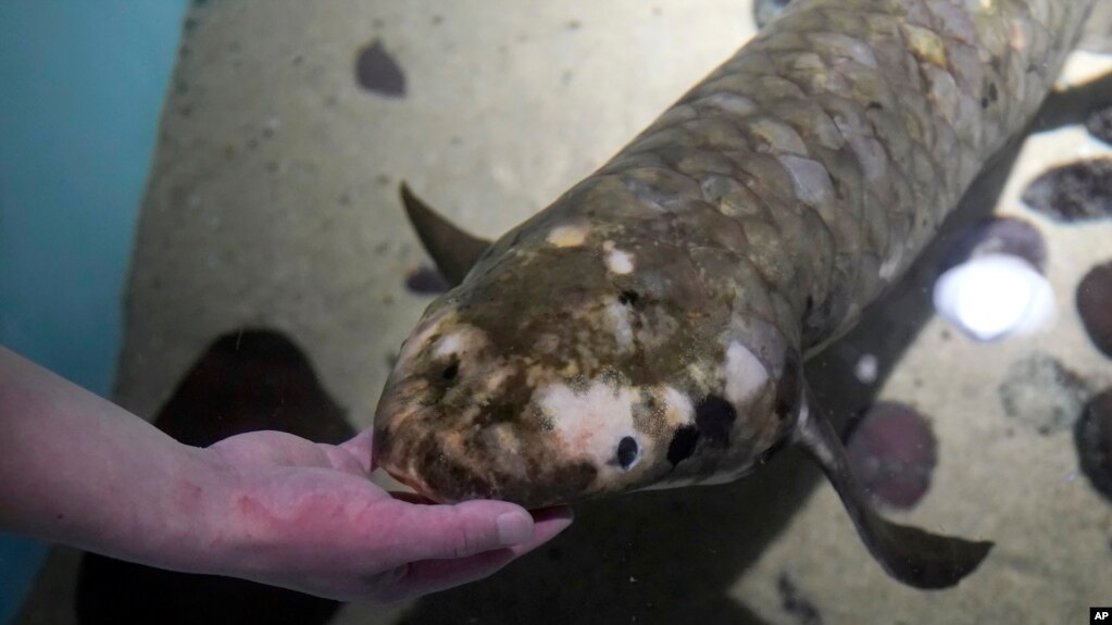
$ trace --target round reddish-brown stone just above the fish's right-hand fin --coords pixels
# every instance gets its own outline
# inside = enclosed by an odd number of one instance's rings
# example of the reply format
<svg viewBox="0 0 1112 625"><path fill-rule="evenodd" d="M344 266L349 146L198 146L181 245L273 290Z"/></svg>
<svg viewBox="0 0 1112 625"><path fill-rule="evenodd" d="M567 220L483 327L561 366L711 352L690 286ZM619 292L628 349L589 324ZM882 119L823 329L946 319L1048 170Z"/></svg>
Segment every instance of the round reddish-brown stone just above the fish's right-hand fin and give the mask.
<svg viewBox="0 0 1112 625"><path fill-rule="evenodd" d="M931 425L910 406L878 403L850 430L846 454L874 499L911 508L931 486L937 443Z"/></svg>

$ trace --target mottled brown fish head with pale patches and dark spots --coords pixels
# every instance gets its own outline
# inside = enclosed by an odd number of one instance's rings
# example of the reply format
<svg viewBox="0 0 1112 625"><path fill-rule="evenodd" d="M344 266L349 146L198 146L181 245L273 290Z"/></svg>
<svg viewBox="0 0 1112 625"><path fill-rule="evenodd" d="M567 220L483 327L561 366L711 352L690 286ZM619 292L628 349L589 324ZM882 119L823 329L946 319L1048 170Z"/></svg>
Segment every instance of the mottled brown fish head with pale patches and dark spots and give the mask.
<svg viewBox="0 0 1112 625"><path fill-rule="evenodd" d="M736 285L645 241L572 220L494 244L403 344L376 465L436 502L540 507L762 459L790 428L797 359L736 318Z"/></svg>

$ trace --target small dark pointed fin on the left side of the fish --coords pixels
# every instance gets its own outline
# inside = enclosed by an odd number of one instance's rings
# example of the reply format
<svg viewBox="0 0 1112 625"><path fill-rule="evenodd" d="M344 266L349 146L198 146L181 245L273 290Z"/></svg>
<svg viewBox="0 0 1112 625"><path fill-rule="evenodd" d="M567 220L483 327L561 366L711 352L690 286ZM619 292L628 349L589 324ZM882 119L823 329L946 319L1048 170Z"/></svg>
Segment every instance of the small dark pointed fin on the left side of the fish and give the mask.
<svg viewBox="0 0 1112 625"><path fill-rule="evenodd" d="M475 261L490 247L490 241L474 237L445 219L415 196L405 182L401 183L401 202L417 238L448 284L456 286L464 281Z"/></svg>

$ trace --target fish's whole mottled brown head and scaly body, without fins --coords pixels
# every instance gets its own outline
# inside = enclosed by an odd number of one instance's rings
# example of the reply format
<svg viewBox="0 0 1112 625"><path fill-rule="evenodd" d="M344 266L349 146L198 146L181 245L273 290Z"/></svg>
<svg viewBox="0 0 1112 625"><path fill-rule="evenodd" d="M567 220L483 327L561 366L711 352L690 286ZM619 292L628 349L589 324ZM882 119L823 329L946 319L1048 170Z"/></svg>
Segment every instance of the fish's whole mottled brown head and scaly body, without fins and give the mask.
<svg viewBox="0 0 1112 625"><path fill-rule="evenodd" d="M429 307L378 464L529 507L746 473L794 427L804 355L1024 129L1091 6L793 4Z"/></svg>

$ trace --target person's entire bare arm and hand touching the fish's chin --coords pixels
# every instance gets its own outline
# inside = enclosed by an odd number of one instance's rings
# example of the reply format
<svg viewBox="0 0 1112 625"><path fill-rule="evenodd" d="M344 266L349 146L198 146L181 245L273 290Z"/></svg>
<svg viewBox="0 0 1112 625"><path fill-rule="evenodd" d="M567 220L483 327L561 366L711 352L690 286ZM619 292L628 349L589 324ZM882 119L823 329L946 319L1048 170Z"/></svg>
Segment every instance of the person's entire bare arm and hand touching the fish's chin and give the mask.
<svg viewBox="0 0 1112 625"><path fill-rule="evenodd" d="M393 603L486 577L572 523L370 482L370 434L181 445L0 347L0 530L145 565Z"/></svg>

